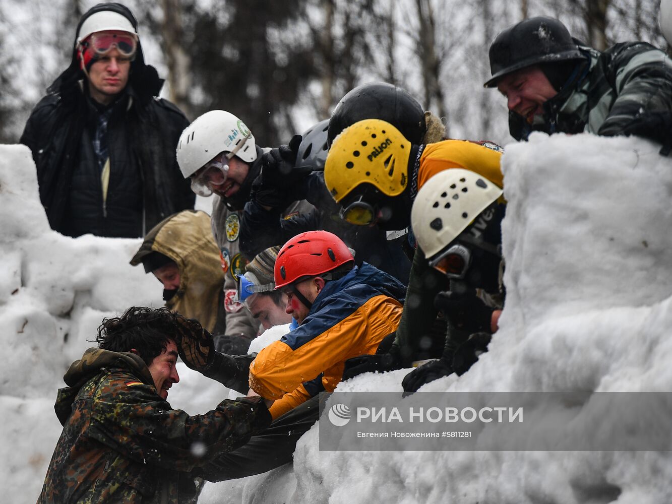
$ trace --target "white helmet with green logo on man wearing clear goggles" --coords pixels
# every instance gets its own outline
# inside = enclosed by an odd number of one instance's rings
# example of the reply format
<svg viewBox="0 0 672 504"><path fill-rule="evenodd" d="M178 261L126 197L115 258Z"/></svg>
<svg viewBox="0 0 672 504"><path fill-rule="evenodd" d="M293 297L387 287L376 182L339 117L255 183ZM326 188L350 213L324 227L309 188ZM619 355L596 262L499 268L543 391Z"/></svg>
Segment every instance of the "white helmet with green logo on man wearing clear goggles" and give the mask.
<svg viewBox="0 0 672 504"><path fill-rule="evenodd" d="M186 179L216 155L227 152L246 163L257 159L252 132L239 118L224 110L211 110L187 126L177 142L177 163Z"/></svg>

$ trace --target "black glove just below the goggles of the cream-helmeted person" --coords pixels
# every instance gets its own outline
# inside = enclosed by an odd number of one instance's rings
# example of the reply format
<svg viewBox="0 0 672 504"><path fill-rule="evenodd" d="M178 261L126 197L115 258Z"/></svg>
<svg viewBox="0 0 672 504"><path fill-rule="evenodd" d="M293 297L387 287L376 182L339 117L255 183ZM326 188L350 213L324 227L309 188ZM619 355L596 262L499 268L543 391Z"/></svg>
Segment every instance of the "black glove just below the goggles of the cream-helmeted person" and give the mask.
<svg viewBox="0 0 672 504"><path fill-rule="evenodd" d="M444 290L434 298L434 307L444 312L450 323L468 333L491 333L491 321L495 308L476 296L476 290L451 292Z"/></svg>

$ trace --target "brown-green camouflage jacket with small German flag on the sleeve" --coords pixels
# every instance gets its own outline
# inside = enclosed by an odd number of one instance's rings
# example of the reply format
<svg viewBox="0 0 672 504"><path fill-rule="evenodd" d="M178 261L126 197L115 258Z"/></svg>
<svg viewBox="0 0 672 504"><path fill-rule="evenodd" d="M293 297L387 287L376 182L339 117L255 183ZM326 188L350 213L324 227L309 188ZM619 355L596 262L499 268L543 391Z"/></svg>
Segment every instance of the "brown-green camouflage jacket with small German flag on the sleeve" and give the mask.
<svg viewBox="0 0 672 504"><path fill-rule="evenodd" d="M195 502L210 460L271 421L260 398L193 417L171 409L134 353L90 348L64 380L54 407L63 431L38 504Z"/></svg>

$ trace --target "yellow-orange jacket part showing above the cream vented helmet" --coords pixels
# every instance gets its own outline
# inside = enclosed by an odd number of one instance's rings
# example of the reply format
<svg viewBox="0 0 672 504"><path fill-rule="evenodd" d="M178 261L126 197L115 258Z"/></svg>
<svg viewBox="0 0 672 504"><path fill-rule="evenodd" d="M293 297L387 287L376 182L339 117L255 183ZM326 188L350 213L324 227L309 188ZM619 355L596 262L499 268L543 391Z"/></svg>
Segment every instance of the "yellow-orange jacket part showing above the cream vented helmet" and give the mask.
<svg viewBox="0 0 672 504"><path fill-rule="evenodd" d="M498 187L504 186L499 166L501 153L468 140L444 140L427 144L420 157L418 190L439 171L464 168L487 178Z"/></svg>

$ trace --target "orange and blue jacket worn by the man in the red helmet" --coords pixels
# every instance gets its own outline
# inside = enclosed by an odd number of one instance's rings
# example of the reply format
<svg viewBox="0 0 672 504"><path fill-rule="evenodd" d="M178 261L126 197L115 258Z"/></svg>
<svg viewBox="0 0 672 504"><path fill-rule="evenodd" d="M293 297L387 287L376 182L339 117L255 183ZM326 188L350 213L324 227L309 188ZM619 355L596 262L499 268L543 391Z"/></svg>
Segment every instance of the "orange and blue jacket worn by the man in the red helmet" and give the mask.
<svg viewBox="0 0 672 504"><path fill-rule="evenodd" d="M405 293L401 282L368 263L327 282L301 325L261 350L250 366L252 390L276 399L274 419L321 390L332 392L349 358L376 353L396 331Z"/></svg>

